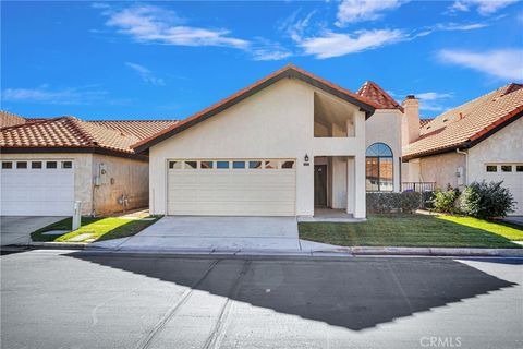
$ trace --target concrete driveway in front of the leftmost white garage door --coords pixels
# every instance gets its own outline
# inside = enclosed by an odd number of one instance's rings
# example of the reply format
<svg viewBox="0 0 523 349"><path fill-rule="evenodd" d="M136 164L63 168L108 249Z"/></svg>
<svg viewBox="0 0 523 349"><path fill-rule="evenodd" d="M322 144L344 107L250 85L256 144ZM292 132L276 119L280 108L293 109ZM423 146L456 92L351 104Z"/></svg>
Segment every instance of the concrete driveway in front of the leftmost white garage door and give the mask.
<svg viewBox="0 0 523 349"><path fill-rule="evenodd" d="M0 242L1 245L26 244L33 231L59 221L65 217L26 217L26 216L1 216L0 217Z"/></svg>

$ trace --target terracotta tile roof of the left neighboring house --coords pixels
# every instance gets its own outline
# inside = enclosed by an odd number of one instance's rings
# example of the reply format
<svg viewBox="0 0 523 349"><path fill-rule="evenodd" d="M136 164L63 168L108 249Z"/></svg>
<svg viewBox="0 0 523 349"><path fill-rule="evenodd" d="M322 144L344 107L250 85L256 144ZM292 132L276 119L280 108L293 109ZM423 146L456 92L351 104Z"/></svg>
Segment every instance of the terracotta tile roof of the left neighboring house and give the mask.
<svg viewBox="0 0 523 349"><path fill-rule="evenodd" d="M0 146L8 148L101 148L133 154L131 145L175 121L83 121L74 117L41 119L4 128Z"/></svg>

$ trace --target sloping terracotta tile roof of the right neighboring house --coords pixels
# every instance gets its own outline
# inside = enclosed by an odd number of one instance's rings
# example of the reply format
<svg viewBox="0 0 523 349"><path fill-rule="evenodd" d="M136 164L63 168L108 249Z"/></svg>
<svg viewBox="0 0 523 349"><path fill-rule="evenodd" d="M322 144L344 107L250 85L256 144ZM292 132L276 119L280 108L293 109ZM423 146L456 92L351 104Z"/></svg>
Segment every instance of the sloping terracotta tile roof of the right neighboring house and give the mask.
<svg viewBox="0 0 523 349"><path fill-rule="evenodd" d="M403 157L409 159L473 146L488 132L522 115L523 85L506 85L425 124L419 139L403 148Z"/></svg>

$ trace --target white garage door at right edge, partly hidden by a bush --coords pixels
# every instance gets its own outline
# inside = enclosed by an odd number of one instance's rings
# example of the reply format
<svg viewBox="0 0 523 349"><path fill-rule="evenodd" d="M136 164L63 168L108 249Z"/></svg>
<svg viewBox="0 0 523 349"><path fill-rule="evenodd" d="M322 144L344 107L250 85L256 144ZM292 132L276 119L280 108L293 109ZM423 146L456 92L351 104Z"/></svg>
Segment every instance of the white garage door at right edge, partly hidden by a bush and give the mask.
<svg viewBox="0 0 523 349"><path fill-rule="evenodd" d="M503 181L501 185L508 188L518 202L511 215L523 215L523 164L486 164L485 180Z"/></svg>

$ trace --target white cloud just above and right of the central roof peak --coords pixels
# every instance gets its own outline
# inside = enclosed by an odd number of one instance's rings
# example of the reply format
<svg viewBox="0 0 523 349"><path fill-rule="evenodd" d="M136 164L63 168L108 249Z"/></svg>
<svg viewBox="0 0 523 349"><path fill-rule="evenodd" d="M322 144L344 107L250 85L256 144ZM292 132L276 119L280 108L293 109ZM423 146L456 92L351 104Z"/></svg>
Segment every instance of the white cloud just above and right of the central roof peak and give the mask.
<svg viewBox="0 0 523 349"><path fill-rule="evenodd" d="M300 39L299 45L307 55L330 58L376 49L408 39L399 29L358 31L353 34L326 32L323 36Z"/></svg>

